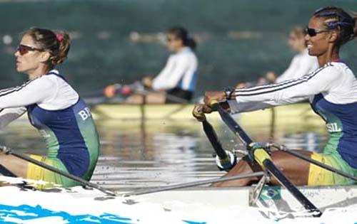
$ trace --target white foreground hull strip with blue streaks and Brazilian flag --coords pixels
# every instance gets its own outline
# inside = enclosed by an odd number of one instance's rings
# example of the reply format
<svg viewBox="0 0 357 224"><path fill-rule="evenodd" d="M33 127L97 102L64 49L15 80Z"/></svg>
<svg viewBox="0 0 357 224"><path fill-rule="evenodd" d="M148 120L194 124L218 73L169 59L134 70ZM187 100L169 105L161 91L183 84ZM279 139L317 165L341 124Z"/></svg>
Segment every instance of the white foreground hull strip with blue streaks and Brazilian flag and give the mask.
<svg viewBox="0 0 357 224"><path fill-rule="evenodd" d="M357 221L357 186L303 187L302 193L325 214L306 218L284 189L265 188L249 205L252 187L193 188L145 196L109 197L81 187L49 192L0 188L0 220L12 223L336 223ZM310 215L311 216L311 215ZM294 220L290 218L295 217ZM341 223L341 222L340 222Z"/></svg>

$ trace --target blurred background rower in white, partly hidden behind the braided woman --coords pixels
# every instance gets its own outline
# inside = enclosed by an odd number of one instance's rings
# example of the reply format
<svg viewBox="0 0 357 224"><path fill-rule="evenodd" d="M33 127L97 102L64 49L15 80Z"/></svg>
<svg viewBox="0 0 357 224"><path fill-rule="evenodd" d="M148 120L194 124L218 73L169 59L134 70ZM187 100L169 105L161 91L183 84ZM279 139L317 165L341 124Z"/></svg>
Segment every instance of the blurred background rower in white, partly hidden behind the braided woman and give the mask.
<svg viewBox="0 0 357 224"><path fill-rule="evenodd" d="M315 56L308 55L305 40L305 28L303 26L295 26L291 29L288 36L288 45L298 54L291 60L288 69L276 78L276 74L272 71L266 73L265 78L260 78L255 85L266 85L274 82L283 82L293 78L300 78L303 75L313 72L318 68L318 60ZM251 87L253 83L240 83L237 87Z"/></svg>

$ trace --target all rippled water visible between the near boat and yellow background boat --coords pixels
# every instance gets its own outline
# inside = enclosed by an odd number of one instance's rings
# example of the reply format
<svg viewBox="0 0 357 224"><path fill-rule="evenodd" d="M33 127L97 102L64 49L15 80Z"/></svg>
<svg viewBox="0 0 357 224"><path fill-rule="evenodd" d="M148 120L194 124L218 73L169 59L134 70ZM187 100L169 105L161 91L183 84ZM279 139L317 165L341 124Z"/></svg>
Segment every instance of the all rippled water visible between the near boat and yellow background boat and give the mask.
<svg viewBox="0 0 357 224"><path fill-rule="evenodd" d="M99 161L91 181L112 190L167 186L174 183L215 178L218 171L213 149L201 124L193 121L123 122L97 120L101 138ZM225 149L239 149L240 142L221 123L213 126ZM257 141L268 141L269 127L244 127ZM277 128L274 142L291 149L319 151L326 143L323 127ZM0 132L0 143L29 154L46 154L44 142L26 119Z"/></svg>

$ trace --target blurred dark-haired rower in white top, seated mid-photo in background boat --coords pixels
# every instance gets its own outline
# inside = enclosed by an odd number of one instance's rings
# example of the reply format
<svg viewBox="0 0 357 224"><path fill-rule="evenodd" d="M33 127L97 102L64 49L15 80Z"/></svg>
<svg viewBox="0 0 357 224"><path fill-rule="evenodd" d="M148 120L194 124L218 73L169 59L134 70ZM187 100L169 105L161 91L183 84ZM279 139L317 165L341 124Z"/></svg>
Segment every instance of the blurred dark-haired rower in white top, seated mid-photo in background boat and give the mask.
<svg viewBox="0 0 357 224"><path fill-rule="evenodd" d="M144 85L146 91L135 94L134 90L134 94L129 96L126 102L161 104L190 102L192 100L196 90L198 67L198 60L194 53L196 41L185 28L174 27L167 32L167 48L174 54L170 55L165 68L154 79L144 78L142 85ZM121 87L121 85L117 86ZM119 88L110 85L104 90L104 95L113 97L118 91L116 89ZM131 91L128 91L128 86L122 87L122 90L131 93Z"/></svg>

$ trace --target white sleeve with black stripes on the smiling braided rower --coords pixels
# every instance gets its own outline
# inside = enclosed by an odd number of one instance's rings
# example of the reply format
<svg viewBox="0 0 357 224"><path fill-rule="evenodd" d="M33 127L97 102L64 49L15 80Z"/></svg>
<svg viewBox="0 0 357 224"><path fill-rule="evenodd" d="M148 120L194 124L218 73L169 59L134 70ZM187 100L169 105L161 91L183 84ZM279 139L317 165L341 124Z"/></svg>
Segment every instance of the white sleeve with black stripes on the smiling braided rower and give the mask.
<svg viewBox="0 0 357 224"><path fill-rule="evenodd" d="M357 102L357 80L344 63L327 63L301 78L271 85L236 89L229 100L232 112L246 112L313 100L318 94L338 105Z"/></svg>

